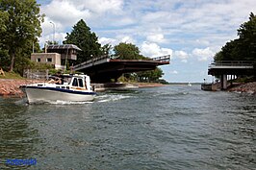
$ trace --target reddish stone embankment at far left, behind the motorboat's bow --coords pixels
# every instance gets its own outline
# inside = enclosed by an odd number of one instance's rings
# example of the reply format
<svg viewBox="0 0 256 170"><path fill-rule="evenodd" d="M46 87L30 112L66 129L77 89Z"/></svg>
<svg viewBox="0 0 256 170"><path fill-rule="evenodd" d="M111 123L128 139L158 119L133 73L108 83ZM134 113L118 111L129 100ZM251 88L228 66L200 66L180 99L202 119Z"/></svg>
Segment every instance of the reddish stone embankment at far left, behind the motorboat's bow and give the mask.
<svg viewBox="0 0 256 170"><path fill-rule="evenodd" d="M16 80L16 79L0 79L0 96L13 95L22 97L24 93L19 89L20 85L35 84L38 80Z"/></svg>

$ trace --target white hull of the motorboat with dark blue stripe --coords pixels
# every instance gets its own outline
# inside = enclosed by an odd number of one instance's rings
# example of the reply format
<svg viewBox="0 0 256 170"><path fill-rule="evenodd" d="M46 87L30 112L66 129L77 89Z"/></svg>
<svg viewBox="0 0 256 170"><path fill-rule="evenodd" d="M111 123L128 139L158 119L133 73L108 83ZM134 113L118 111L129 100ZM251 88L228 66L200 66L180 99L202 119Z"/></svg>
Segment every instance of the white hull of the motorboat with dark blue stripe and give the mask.
<svg viewBox="0 0 256 170"><path fill-rule="evenodd" d="M74 91L53 87L27 86L25 92L28 103L44 103L44 102L89 102L94 99L94 92Z"/></svg>

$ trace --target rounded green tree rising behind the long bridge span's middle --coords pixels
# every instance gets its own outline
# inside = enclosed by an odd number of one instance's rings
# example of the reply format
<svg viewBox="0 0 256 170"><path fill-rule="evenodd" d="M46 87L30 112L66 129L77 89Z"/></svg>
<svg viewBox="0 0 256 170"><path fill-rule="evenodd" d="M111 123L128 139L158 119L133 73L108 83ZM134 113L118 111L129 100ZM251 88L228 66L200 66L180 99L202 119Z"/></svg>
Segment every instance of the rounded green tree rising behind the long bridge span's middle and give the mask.
<svg viewBox="0 0 256 170"><path fill-rule="evenodd" d="M121 42L114 47L115 57L120 60L144 60L139 48L132 43Z"/></svg>

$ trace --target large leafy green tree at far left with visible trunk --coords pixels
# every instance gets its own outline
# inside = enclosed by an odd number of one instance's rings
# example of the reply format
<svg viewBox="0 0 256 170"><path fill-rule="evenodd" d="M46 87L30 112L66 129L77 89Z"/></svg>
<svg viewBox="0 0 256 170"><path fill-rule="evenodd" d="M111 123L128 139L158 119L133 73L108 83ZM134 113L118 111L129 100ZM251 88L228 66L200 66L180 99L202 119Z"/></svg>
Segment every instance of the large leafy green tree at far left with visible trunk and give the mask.
<svg viewBox="0 0 256 170"><path fill-rule="evenodd" d="M22 50L31 42L37 42L44 15L39 13L36 0L1 0L0 12L0 22L3 23L0 45L8 51L10 71L13 71L17 55L21 55Z"/></svg>

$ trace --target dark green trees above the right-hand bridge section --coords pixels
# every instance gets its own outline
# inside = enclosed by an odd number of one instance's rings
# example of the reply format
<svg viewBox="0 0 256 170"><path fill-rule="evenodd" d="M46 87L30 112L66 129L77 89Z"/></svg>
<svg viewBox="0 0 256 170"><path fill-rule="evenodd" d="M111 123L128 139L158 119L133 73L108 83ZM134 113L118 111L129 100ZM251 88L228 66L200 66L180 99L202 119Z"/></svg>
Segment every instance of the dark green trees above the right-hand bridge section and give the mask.
<svg viewBox="0 0 256 170"><path fill-rule="evenodd" d="M238 39L227 42L215 56L215 61L256 61L256 16L238 29Z"/></svg>

